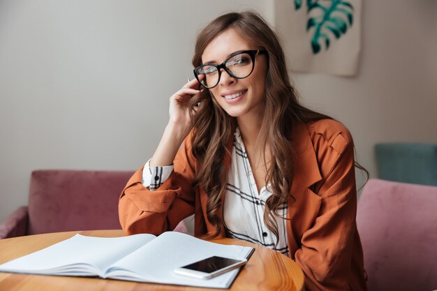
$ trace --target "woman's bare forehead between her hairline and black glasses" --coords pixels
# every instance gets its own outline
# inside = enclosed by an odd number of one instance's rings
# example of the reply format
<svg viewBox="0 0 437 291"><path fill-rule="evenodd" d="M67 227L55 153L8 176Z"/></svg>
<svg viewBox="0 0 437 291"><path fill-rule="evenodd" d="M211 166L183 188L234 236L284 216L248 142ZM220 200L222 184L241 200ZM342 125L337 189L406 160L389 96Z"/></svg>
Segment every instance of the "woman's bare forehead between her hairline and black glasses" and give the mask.
<svg viewBox="0 0 437 291"><path fill-rule="evenodd" d="M202 54L202 64L223 62L230 54L240 50L255 50L235 29L227 29L220 33L205 47Z"/></svg>

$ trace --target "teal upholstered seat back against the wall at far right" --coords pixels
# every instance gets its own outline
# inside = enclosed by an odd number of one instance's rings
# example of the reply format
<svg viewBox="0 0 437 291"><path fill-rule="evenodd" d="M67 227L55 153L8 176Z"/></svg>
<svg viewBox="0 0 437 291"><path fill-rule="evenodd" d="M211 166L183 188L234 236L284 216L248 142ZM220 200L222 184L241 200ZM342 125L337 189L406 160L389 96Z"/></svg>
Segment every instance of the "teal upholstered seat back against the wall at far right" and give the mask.
<svg viewBox="0 0 437 291"><path fill-rule="evenodd" d="M437 186L437 144L376 144L378 177Z"/></svg>

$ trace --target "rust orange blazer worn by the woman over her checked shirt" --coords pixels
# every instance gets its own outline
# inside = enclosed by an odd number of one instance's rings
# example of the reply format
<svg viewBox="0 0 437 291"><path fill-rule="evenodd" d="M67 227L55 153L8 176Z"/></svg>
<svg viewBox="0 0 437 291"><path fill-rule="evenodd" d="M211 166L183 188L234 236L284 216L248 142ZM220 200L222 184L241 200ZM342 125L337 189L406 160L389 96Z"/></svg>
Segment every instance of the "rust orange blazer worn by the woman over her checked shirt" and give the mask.
<svg viewBox="0 0 437 291"><path fill-rule="evenodd" d="M352 137L339 122L324 119L296 126L292 142L297 161L290 193L295 202L290 197L287 239L292 259L306 276L306 290L366 290L355 223ZM208 197L201 187L191 185L195 171L190 134L177 153L174 172L158 190L142 186L142 169L135 172L119 200L126 234L161 234L191 214L195 214L196 236L213 232L206 216ZM224 230L221 235L225 236Z"/></svg>

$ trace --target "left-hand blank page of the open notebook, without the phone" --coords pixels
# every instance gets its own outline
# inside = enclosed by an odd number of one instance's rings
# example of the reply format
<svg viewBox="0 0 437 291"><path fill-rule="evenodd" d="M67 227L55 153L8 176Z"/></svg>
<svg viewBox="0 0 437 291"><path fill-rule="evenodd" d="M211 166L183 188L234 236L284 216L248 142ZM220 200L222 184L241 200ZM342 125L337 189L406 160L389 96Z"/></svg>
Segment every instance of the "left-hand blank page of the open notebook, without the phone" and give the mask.
<svg viewBox="0 0 437 291"><path fill-rule="evenodd" d="M43 250L0 265L0 271L72 276L101 275L112 262L154 239L152 234L129 237L85 237L76 234ZM95 266L90 267L90 265Z"/></svg>

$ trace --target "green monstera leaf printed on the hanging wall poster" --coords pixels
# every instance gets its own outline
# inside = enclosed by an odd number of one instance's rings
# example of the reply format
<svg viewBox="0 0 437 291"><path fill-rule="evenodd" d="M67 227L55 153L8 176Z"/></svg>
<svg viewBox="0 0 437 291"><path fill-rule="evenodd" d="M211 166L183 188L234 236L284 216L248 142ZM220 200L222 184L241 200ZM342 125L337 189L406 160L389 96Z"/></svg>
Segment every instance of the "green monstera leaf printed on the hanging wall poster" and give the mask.
<svg viewBox="0 0 437 291"><path fill-rule="evenodd" d="M295 10L299 10L302 7L302 0L294 1ZM343 0L307 0L306 13L309 15L306 31L313 31L311 38L313 54L320 52L320 43L325 43L326 50L329 49L330 37L333 36L338 40L353 24L354 8L352 4Z"/></svg>

